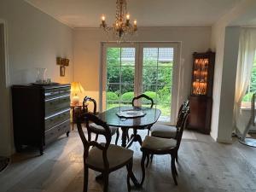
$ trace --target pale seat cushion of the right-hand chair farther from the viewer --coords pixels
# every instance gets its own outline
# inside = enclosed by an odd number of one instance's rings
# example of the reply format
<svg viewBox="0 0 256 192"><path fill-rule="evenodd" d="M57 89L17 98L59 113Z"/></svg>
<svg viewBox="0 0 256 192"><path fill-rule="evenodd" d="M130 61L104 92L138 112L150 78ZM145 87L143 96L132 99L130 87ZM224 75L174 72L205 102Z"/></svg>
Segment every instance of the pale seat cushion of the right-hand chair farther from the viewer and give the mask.
<svg viewBox="0 0 256 192"><path fill-rule="evenodd" d="M176 126L168 125L153 125L150 131L153 137L175 138L177 134Z"/></svg>

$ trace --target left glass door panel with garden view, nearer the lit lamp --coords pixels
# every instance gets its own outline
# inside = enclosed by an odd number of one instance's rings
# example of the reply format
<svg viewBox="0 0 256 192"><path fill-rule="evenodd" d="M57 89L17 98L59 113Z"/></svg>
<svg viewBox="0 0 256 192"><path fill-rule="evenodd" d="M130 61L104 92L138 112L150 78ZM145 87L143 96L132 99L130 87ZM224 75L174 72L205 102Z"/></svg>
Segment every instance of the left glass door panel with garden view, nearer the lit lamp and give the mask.
<svg viewBox="0 0 256 192"><path fill-rule="evenodd" d="M131 105L131 100L137 93L135 84L137 63L136 48L106 47L106 94L105 109L117 106Z"/></svg>

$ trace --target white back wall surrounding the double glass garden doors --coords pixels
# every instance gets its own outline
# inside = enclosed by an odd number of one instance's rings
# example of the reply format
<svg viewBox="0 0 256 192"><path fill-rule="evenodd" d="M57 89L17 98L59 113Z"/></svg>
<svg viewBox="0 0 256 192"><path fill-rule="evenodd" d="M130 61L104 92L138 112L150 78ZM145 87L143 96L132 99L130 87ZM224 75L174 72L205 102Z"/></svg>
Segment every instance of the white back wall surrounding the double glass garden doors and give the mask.
<svg viewBox="0 0 256 192"><path fill-rule="evenodd" d="M210 47L211 27L145 27L139 28L133 41L181 42L184 59L183 99L189 96L193 52L205 52ZM99 28L74 31L74 78L84 86L84 95L99 96L99 66L101 42L111 40ZM81 96L82 97L82 96Z"/></svg>

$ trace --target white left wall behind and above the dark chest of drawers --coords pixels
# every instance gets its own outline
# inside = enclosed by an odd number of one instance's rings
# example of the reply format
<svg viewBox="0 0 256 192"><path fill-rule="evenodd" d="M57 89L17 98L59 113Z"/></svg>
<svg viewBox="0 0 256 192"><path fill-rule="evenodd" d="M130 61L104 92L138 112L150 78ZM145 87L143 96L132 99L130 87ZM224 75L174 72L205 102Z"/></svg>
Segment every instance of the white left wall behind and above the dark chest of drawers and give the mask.
<svg viewBox="0 0 256 192"><path fill-rule="evenodd" d="M73 30L70 27L23 0L1 0L1 19L7 24L10 85L34 82L36 67L46 67L47 76L55 82L73 80ZM56 56L70 59L66 77L60 77L60 67L55 64ZM6 103L10 102L9 96L3 99ZM6 116L11 114L3 106L0 110ZM0 117L1 123L4 118ZM0 129L0 155L13 153L12 139L10 121L5 121Z"/></svg>

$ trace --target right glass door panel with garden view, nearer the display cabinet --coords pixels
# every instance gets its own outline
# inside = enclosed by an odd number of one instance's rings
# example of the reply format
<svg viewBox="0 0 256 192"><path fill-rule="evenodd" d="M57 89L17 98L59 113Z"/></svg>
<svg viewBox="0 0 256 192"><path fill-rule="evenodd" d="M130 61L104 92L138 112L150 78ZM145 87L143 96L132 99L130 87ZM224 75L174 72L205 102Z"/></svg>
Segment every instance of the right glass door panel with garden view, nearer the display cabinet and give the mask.
<svg viewBox="0 0 256 192"><path fill-rule="evenodd" d="M172 73L174 48L161 44L142 46L142 93L154 99L154 107L161 110L159 121L171 121ZM161 45L163 46L163 45ZM145 105L146 103L143 103Z"/></svg>

